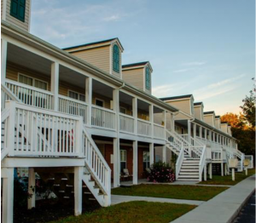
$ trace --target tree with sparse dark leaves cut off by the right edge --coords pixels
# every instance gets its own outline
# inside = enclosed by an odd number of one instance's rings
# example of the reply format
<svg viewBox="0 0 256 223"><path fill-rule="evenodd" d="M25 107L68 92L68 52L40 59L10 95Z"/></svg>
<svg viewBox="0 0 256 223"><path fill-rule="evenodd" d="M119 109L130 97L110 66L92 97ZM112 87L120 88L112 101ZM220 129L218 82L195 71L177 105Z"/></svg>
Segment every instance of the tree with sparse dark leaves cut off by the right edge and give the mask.
<svg viewBox="0 0 256 223"><path fill-rule="evenodd" d="M250 91L250 96L246 96L246 98L242 100L244 103L243 106L240 106L244 117L243 120L253 129L255 129L255 99L256 88L255 83L253 83L253 90Z"/></svg>

